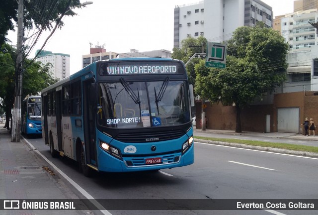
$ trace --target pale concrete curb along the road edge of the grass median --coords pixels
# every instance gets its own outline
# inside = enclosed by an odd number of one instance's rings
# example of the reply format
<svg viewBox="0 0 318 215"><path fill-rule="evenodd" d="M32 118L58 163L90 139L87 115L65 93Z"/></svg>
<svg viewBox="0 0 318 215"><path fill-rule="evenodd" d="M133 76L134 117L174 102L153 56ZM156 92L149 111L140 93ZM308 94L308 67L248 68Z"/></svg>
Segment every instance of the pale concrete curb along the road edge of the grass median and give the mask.
<svg viewBox="0 0 318 215"><path fill-rule="evenodd" d="M208 143L212 145L224 145L224 146L231 146L235 148L244 148L244 149L252 149L252 150L258 150L258 151L275 152L280 154L290 154L290 155L318 158L318 153L314 153L314 152L294 151L294 150L278 149L278 148L263 147L263 146L251 146L251 145L245 145L240 143L228 143L228 142L222 142L222 141L204 140L204 139L195 139L195 138L194 138L194 141Z"/></svg>

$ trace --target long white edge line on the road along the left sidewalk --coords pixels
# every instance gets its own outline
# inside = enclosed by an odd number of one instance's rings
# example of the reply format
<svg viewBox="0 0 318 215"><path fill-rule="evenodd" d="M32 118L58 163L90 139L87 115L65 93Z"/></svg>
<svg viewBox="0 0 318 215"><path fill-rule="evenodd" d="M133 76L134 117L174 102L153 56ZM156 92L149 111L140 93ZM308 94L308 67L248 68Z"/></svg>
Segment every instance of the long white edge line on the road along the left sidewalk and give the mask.
<svg viewBox="0 0 318 215"><path fill-rule="evenodd" d="M63 176L68 182L70 182L86 199L88 199L98 210L104 215L112 215L110 214L102 205L100 205L87 191L82 189L75 181L73 181L69 176L67 176L62 170L60 170L57 166L55 166L49 159L47 159L41 152L36 149L27 139L23 136L22 138L27 142L27 144L38 153L46 162L48 162L61 176Z"/></svg>

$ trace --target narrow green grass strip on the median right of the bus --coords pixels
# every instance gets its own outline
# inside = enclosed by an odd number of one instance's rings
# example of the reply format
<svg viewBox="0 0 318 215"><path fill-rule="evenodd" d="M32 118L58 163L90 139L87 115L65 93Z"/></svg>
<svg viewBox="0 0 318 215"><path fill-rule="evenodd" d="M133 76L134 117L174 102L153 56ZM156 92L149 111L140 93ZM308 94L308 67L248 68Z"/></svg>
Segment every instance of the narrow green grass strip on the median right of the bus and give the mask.
<svg viewBox="0 0 318 215"><path fill-rule="evenodd" d="M318 153L318 147L316 147L316 146L295 145L295 144L275 143L275 142L263 142L263 141L258 141L258 140L240 140L240 139L200 137L200 136L194 136L194 138L204 139L204 140L212 140L212 141L220 141L220 142L228 142L228 143L240 143L240 144L252 145L252 146L263 146L263 147L270 147L270 148L287 149L287 150L293 150L293 151L305 151L305 152Z"/></svg>

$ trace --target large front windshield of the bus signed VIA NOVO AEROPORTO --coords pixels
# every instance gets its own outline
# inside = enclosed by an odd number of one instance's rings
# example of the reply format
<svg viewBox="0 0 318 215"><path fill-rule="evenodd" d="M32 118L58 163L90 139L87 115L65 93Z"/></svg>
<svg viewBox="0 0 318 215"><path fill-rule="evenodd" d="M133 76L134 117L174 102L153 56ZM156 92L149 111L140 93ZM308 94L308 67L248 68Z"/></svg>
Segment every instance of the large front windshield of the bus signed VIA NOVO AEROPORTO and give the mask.
<svg viewBox="0 0 318 215"><path fill-rule="evenodd" d="M97 122L104 127L172 126L190 122L186 81L100 83Z"/></svg>

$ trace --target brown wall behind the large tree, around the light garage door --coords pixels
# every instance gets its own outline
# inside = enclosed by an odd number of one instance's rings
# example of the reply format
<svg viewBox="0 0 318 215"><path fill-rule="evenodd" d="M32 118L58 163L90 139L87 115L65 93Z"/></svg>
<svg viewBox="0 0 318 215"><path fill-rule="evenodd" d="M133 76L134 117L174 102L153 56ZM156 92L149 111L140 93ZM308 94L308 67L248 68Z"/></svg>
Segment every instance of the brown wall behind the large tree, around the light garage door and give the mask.
<svg viewBox="0 0 318 215"><path fill-rule="evenodd" d="M206 102L207 129L235 130L236 108ZM265 132L266 114L270 114L270 131L277 132L277 109L299 108L299 122L306 117L318 123L318 96L313 92L283 93L274 95L272 105L252 105L241 110L242 131ZM196 128L201 129L201 101L196 101Z"/></svg>

